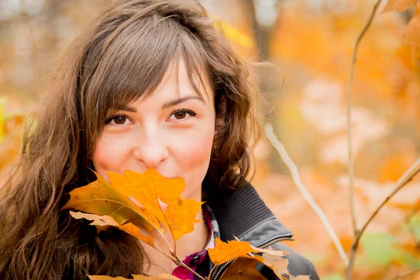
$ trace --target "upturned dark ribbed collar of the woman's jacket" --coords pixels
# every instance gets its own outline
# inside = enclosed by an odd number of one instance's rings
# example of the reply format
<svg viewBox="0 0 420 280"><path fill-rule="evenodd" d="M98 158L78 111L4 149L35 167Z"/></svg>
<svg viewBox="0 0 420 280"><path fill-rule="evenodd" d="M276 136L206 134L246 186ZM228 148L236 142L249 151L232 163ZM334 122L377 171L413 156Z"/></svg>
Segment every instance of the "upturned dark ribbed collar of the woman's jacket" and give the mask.
<svg viewBox="0 0 420 280"><path fill-rule="evenodd" d="M274 239L293 239L293 233L276 219L248 182L229 195L217 197L211 209L222 241L237 237L253 246L262 246Z"/></svg>

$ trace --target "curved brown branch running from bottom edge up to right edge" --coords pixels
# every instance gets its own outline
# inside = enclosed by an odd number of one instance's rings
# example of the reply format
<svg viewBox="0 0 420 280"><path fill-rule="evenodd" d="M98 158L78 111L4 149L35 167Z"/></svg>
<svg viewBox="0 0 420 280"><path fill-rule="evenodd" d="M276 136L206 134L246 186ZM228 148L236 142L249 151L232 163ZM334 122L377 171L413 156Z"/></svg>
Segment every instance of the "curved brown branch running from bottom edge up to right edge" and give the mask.
<svg viewBox="0 0 420 280"><path fill-rule="evenodd" d="M414 164L411 167L409 167L409 169L407 169L407 171L404 172L402 176L400 176L400 179L398 179L398 181L395 183L395 188L393 189L393 191L386 197L384 201L381 202L379 207L377 207L377 209L373 212L370 218L363 225L360 232L358 232L358 235L356 235L356 237L354 238L353 244L351 245L351 251L349 255L349 267L347 267L347 279L351 279L351 272L353 269L353 263L354 263L354 258L356 256L358 243L360 241L360 237L363 235L363 232L365 232L367 225L369 225L370 222L373 220L373 218L377 216L379 210L381 210L381 208L384 207L386 202L388 202L388 200L390 200L391 197L395 195L395 193L398 193L398 191L401 190L402 187L407 185L409 181L412 181L414 176L416 176L416 174L418 174L419 172L420 172L420 158L416 160L416 162L414 162Z"/></svg>

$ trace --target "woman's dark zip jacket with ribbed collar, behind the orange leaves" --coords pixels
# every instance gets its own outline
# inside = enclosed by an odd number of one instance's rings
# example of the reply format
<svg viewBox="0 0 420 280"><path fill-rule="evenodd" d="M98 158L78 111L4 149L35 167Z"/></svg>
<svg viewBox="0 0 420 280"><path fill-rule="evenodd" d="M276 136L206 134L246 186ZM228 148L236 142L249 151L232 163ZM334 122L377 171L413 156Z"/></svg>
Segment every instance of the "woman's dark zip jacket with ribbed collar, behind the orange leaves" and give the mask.
<svg viewBox="0 0 420 280"><path fill-rule="evenodd" d="M235 240L237 237L256 247L271 245L292 253L287 255L291 275L309 275L311 280L319 279L314 265L309 260L281 244L282 240L294 240L293 233L276 219L251 184L248 183L230 195L218 197L215 201L211 203L211 209L216 216L222 241ZM230 262L218 265L210 279L217 280L229 265ZM279 279L267 267L260 272L267 279Z"/></svg>

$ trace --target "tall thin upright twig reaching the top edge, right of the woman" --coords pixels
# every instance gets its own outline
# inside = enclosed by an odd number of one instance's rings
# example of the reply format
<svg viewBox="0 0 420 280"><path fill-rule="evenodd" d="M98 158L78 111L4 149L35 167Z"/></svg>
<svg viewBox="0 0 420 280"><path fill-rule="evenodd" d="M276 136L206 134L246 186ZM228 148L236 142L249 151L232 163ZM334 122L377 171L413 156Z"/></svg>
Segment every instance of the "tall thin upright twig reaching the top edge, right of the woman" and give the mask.
<svg viewBox="0 0 420 280"><path fill-rule="evenodd" d="M353 57L351 59L351 68L350 68L350 78L349 78L349 92L347 97L347 142L348 142L348 149L349 149L349 190L350 190L350 209L351 209L351 224L353 225L353 232L354 236L358 234L357 229L357 222L356 222L356 211L354 209L354 188L353 188L353 181L354 181L354 167L353 167L353 141L351 139L351 107L353 106L353 76L354 76L354 66L356 64L356 54L358 50L358 46L360 45L360 41L362 40L363 36L367 29L369 29L370 24L374 18L374 14L376 13L381 0L378 0L377 3L374 5L372 13L370 14L369 20L363 30L360 32L356 43L354 45L353 50Z"/></svg>

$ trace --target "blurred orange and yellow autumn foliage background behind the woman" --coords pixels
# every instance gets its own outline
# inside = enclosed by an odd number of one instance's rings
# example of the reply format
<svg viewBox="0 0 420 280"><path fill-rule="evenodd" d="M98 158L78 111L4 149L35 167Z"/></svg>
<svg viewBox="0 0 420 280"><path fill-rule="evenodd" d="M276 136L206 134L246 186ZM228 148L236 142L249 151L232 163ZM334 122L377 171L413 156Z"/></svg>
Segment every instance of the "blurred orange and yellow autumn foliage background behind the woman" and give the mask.
<svg viewBox="0 0 420 280"><path fill-rule="evenodd" d="M0 0L0 172L18 157L27 118L57 57L110 0ZM344 249L351 228L346 94L351 54L371 0L201 0L225 23L260 89L262 122L297 165ZM379 10L383 9L386 1ZM395 181L420 157L420 64L402 43L414 8L378 13L358 52L353 147L356 216L362 225ZM264 137L255 150L253 185L295 234L285 241L309 258L321 279L344 279L344 264L325 228ZM0 179L1 183L1 179ZM354 279L397 279L420 269L420 181L391 199L361 240ZM404 279L420 279L420 273Z"/></svg>

